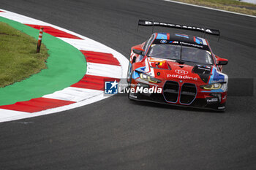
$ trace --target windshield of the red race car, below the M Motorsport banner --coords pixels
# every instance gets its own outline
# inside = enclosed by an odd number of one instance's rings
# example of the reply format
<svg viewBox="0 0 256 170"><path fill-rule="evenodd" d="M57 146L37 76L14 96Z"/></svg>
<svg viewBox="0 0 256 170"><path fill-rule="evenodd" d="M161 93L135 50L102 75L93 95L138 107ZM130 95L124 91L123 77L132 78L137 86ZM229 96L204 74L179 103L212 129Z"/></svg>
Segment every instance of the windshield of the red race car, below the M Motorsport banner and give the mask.
<svg viewBox="0 0 256 170"><path fill-rule="evenodd" d="M213 64L211 53L207 50L180 45L151 45L148 50L148 56L202 64Z"/></svg>

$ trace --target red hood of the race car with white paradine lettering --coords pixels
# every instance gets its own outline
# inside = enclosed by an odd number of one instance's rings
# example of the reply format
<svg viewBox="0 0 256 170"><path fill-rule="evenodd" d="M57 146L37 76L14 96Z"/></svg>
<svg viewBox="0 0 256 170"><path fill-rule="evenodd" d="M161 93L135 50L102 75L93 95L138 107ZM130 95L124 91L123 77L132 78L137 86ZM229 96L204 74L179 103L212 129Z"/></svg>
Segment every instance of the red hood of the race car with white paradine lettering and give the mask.
<svg viewBox="0 0 256 170"><path fill-rule="evenodd" d="M197 63L178 63L177 61L146 58L145 71L147 74L164 80L176 80L184 82L195 82L207 84L214 82L224 82L225 74L217 71L215 66L204 66Z"/></svg>

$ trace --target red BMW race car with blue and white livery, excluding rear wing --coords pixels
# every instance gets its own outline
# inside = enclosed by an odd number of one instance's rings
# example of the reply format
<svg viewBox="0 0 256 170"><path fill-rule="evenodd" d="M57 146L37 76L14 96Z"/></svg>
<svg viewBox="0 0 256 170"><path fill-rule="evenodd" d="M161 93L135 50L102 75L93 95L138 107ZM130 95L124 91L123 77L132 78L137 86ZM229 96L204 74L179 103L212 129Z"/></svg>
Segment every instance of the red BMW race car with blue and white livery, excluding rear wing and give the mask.
<svg viewBox="0 0 256 170"><path fill-rule="evenodd" d="M225 111L228 77L222 65L226 64L227 59L214 55L204 38L154 33L131 49L128 97Z"/></svg>

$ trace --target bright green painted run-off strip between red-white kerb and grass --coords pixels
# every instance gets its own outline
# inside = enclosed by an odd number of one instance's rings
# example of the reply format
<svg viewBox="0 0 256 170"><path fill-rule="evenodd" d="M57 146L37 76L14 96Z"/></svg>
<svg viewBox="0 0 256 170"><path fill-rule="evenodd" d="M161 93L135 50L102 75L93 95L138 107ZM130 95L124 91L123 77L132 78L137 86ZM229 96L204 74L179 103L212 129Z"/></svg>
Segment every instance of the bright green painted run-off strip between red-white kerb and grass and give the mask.
<svg viewBox="0 0 256 170"><path fill-rule="evenodd" d="M0 21L33 36L35 39L38 38L39 31L37 29L7 18L0 17ZM86 74L86 59L77 48L46 33L43 34L42 42L48 48L50 55L46 63L48 69L42 69L41 72L26 80L0 88L0 105L28 101L31 98L42 97L56 90L62 90L78 82Z"/></svg>

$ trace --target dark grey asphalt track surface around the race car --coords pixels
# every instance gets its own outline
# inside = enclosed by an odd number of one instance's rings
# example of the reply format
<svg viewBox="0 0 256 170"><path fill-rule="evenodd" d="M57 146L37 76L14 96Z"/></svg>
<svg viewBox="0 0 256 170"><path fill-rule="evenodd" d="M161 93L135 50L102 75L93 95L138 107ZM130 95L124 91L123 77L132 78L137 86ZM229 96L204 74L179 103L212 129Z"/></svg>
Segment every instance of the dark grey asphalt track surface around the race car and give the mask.
<svg viewBox="0 0 256 170"><path fill-rule="evenodd" d="M208 40L217 55L230 60L225 73L255 79L255 18L152 0L1 0L0 6L88 36L127 57L130 47L151 34L150 28L136 31L138 18L219 28L220 42ZM256 169L255 107L255 94L229 96L225 113L113 96L0 123L0 169Z"/></svg>

